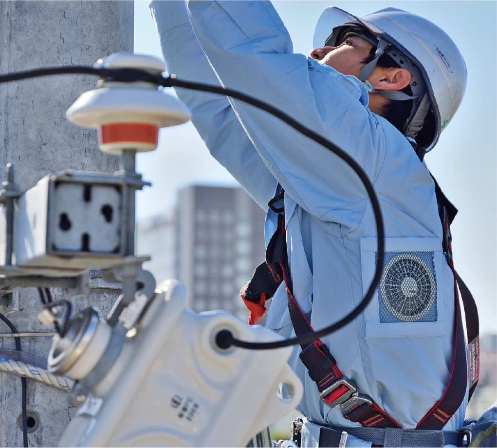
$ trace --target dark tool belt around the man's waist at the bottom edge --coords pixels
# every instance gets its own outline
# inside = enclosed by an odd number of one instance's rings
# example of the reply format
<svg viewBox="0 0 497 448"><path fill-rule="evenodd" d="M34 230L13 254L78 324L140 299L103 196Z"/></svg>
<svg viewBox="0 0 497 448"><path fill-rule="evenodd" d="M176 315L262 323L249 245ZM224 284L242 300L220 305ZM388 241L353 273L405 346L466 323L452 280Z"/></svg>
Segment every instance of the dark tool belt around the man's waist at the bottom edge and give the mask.
<svg viewBox="0 0 497 448"><path fill-rule="evenodd" d="M292 441L301 447L303 419L291 423ZM319 425L318 425L319 426ZM465 447L465 432L409 430L401 428L330 428L321 426L319 448L346 448L348 436L373 446L385 448L443 448L446 445ZM469 441L468 441L469 442Z"/></svg>

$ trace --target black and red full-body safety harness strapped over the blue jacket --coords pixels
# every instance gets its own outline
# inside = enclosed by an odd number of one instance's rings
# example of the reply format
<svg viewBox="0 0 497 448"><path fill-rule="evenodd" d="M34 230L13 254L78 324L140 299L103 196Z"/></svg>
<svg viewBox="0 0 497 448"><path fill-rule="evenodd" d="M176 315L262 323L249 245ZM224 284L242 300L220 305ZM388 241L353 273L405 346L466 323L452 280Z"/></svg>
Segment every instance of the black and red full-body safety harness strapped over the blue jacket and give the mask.
<svg viewBox="0 0 497 448"><path fill-rule="evenodd" d="M412 145L422 161L424 150L416 147L417 145L414 142L412 142ZM468 384L467 365L469 367L470 398L478 382L479 323L475 300L453 265L450 224L457 213L457 209L445 197L436 180L434 178L433 180L435 182L439 216L443 226L443 250L454 275L454 356L451 376L443 396L426 413L415 429L441 431L457 411L466 394ZM241 296L250 312L248 323L255 324L266 311L264 306L266 300L272 297L276 289L284 281L293 329L297 336L303 336L314 333L314 329L297 304L292 292L287 260L284 206L275 207L275 203L283 198L284 190L281 185L278 185L275 196L268 203L269 208L278 213L277 228L267 246L266 261L255 269L252 279L242 289ZM463 299L468 341L470 341L468 344L468 364L466 364L458 285ZM311 379L316 382L321 401L330 407L339 406L345 418L351 422L359 423L365 428L401 429L401 426L392 417L380 409L369 396L361 394L355 383L340 372L335 358L320 339L308 344L302 344L301 348L300 359L306 366ZM338 442L340 440L339 434L337 436ZM332 445L327 446L331 447Z"/></svg>

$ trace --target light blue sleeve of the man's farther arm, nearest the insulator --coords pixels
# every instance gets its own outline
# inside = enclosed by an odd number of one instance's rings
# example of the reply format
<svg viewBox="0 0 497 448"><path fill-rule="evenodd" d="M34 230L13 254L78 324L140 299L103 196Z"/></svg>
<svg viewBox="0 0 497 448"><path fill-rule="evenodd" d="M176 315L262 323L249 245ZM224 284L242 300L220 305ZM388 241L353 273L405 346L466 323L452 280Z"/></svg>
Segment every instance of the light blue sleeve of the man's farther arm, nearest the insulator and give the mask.
<svg viewBox="0 0 497 448"><path fill-rule="evenodd" d="M220 85L191 27L184 0L153 0L150 10L167 71L178 78ZM226 96L177 89L192 122L214 158L264 209L277 181L266 168Z"/></svg>

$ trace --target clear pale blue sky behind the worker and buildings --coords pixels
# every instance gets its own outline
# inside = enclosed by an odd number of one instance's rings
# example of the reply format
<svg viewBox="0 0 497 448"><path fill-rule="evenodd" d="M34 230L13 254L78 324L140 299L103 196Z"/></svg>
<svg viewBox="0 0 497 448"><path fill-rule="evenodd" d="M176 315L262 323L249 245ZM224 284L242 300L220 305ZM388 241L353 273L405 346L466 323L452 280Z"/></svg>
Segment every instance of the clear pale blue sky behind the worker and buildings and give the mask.
<svg viewBox="0 0 497 448"><path fill-rule="evenodd" d="M292 37L294 52L308 55L312 50L316 22L330 6L329 1L273 1ZM135 0L134 50L162 57L147 3ZM497 334L497 58L493 32L497 2L336 0L333 5L359 16L388 6L409 10L445 30L465 58L468 86L464 100L425 161L445 195L459 209L451 226L454 265L478 304L480 333ZM140 154L137 170L153 183L138 192L139 220L174 206L177 190L191 183L237 185L211 158L191 123L162 129L158 149Z"/></svg>

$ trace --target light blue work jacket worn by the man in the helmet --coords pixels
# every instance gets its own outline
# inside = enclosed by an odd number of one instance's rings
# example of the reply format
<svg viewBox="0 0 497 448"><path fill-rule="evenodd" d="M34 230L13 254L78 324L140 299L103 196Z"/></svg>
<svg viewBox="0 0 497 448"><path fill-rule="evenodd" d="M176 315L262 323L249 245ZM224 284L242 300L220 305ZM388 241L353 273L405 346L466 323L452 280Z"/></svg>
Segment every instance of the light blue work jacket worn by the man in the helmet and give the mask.
<svg viewBox="0 0 497 448"><path fill-rule="evenodd" d="M169 73L261 98L347 151L379 196L386 263L409 253L431 271L436 292L419 320L396 318L376 294L355 321L323 339L361 393L403 428L414 428L443 395L453 362L454 278L442 253L428 169L408 140L367 108L368 92L355 77L292 53L290 36L268 0L187 0L187 6L190 15L183 0L150 4ZM376 263L374 215L357 176L329 150L261 110L214 94L176 93L193 112L211 154L262 207L267 209L278 182L285 189L294 295L311 314L313 328L350 312L369 287ZM274 222L269 211L266 239ZM283 287L266 325L293 334ZM299 410L317 424L357 426L319 400L299 352L297 347L290 359L305 386ZM467 400L446 430L463 425L466 405ZM347 447L370 446L356 442Z"/></svg>

